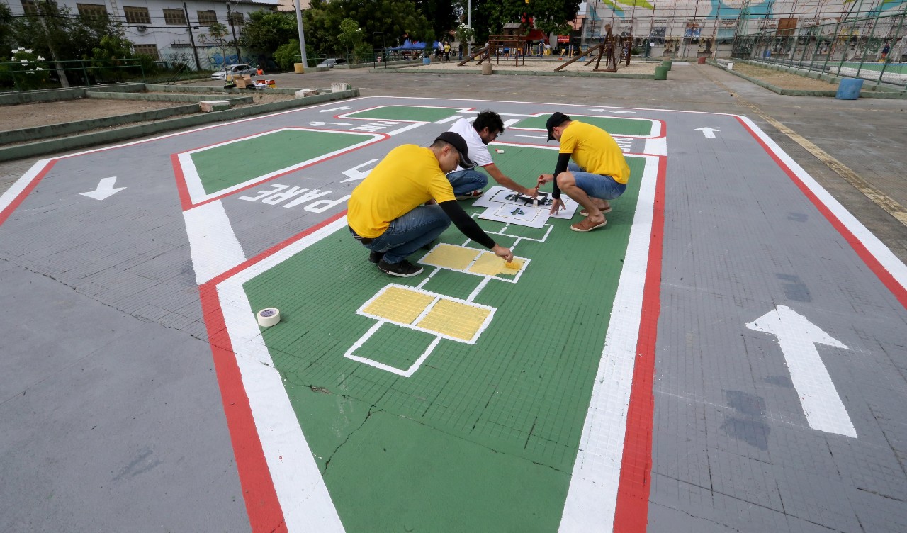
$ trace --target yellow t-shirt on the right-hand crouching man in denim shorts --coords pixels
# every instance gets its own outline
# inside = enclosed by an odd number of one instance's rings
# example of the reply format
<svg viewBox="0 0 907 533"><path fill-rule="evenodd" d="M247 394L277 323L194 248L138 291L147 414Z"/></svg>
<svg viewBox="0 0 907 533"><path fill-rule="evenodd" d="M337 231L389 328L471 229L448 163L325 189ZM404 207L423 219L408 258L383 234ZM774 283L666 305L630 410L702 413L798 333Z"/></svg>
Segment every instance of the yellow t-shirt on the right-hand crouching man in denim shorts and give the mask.
<svg viewBox="0 0 907 533"><path fill-rule="evenodd" d="M592 174L610 176L618 183L629 179L629 166L618 143L591 124L571 121L561 135L561 153L572 154L571 159Z"/></svg>

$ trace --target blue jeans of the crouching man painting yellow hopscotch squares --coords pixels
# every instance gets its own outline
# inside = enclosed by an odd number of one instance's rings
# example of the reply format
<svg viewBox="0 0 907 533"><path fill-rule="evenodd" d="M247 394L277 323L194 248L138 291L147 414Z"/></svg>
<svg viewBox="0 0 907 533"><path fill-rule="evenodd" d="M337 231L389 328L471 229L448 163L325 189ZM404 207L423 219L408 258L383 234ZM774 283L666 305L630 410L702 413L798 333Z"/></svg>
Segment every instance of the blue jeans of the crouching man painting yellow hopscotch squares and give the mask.
<svg viewBox="0 0 907 533"><path fill-rule="evenodd" d="M432 242L450 225L451 219L441 206L419 206L391 220L384 233L363 246L384 254L385 263L393 265Z"/></svg>

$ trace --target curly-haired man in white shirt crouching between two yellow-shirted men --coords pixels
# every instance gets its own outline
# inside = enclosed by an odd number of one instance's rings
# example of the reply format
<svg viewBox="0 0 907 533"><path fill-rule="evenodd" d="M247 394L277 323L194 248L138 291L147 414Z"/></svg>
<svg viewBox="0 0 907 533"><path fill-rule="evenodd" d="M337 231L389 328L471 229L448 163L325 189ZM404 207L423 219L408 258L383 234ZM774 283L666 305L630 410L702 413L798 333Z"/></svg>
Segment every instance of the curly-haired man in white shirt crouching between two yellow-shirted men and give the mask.
<svg viewBox="0 0 907 533"><path fill-rule="evenodd" d="M494 111L482 111L472 124L466 119L453 122L450 131L463 137L475 166L482 167L499 185L533 198L539 193L538 187L529 189L504 176L492 160L492 154L486 145L504 132L501 115ZM483 172L459 166L447 175L447 179L453 186L453 196L459 200L479 198L483 194L482 189L488 185L488 176Z"/></svg>

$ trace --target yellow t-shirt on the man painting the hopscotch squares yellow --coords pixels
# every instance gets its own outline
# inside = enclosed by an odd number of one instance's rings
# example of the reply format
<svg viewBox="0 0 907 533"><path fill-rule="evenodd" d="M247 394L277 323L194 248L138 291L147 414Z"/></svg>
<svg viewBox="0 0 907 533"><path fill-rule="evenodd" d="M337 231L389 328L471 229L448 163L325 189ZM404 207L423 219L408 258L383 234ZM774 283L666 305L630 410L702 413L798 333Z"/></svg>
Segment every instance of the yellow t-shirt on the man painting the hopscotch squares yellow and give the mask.
<svg viewBox="0 0 907 533"><path fill-rule="evenodd" d="M346 223L359 237L379 237L391 220L430 199L438 203L454 199L451 182L432 150L404 144L391 150L353 189Z"/></svg>

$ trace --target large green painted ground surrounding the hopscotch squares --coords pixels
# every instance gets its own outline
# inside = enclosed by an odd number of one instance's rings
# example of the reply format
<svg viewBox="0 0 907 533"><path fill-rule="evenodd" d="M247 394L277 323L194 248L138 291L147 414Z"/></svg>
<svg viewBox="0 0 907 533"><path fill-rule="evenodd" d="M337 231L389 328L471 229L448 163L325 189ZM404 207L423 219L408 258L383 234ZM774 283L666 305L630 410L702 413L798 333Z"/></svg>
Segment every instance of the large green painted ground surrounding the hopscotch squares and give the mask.
<svg viewBox="0 0 907 533"><path fill-rule="evenodd" d="M556 157L507 146L495 163L530 185ZM253 309L281 310L262 335L347 530L558 528L639 194L644 160L628 162L629 188L606 228L580 234L551 219L545 242L519 242L514 254L531 259L522 277L492 279L474 298L497 309L477 342L442 339L408 378L344 354L375 325L356 309L388 284L418 285L433 267L385 276L341 229L245 284ZM439 238L464 240L453 227ZM423 288L465 299L481 280L442 269ZM356 354L405 368L433 339L385 324Z"/></svg>

